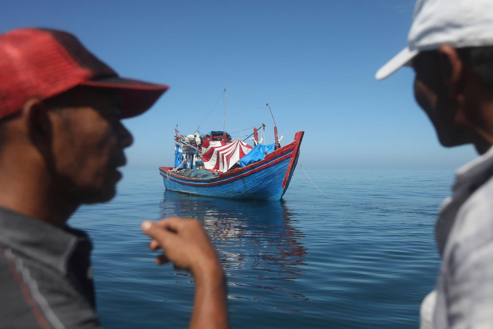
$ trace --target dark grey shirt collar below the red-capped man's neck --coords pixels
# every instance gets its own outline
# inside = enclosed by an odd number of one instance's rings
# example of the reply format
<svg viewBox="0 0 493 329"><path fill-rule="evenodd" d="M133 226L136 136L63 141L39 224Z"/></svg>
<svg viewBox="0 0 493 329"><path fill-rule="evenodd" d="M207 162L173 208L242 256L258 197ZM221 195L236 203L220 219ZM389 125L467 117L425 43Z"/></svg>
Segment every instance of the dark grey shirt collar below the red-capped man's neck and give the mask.
<svg viewBox="0 0 493 329"><path fill-rule="evenodd" d="M0 243L67 273L67 264L78 244L89 244L80 230L59 228L0 207Z"/></svg>

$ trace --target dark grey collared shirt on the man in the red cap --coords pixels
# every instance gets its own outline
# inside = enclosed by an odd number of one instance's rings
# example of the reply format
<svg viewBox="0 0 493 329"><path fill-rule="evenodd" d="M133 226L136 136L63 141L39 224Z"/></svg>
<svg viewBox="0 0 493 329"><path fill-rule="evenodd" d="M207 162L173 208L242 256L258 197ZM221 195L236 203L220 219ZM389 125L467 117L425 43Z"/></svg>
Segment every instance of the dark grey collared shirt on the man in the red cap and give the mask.
<svg viewBox="0 0 493 329"><path fill-rule="evenodd" d="M0 328L101 328L91 241L0 208Z"/></svg>

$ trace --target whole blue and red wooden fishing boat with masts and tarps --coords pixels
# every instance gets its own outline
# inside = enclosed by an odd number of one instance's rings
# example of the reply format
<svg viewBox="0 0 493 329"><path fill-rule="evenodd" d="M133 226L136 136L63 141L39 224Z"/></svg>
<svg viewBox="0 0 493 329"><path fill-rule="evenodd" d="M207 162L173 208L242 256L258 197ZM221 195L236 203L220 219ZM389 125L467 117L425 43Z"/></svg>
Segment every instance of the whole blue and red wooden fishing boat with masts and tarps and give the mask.
<svg viewBox="0 0 493 329"><path fill-rule="evenodd" d="M224 89L223 120L226 95ZM265 124L260 128L260 141L256 127L243 141L232 141L224 131L224 122L222 131L208 134L197 130L184 136L175 129L175 165L159 167L164 186L171 191L216 198L281 200L298 163L304 132L297 132L291 143L281 147L283 137L278 139L276 121L274 144L265 145ZM248 141L253 146L245 143L252 135Z"/></svg>

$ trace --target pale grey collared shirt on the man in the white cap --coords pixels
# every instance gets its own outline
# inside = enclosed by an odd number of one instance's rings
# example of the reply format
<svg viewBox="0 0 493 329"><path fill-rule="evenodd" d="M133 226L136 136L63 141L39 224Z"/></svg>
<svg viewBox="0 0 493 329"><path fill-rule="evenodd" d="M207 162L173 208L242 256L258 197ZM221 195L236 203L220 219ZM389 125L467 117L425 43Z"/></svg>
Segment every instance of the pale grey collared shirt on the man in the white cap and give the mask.
<svg viewBox="0 0 493 329"><path fill-rule="evenodd" d="M453 196L442 205L434 312L422 305L422 314L433 313L433 328L493 328L492 177L493 147L458 169Z"/></svg>

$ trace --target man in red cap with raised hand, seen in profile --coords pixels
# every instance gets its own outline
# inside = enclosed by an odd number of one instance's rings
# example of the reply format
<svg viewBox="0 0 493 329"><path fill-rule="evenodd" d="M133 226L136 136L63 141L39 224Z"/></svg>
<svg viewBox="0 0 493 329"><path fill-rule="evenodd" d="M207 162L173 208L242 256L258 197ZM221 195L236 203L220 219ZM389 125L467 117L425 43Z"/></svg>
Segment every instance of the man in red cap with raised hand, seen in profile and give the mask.
<svg viewBox="0 0 493 329"><path fill-rule="evenodd" d="M0 328L100 328L91 243L67 226L84 203L115 195L132 136L120 119L168 89L119 77L72 35L21 29L0 36ZM196 279L190 328L227 328L225 279L193 219L142 230Z"/></svg>

